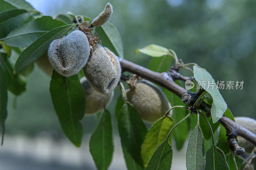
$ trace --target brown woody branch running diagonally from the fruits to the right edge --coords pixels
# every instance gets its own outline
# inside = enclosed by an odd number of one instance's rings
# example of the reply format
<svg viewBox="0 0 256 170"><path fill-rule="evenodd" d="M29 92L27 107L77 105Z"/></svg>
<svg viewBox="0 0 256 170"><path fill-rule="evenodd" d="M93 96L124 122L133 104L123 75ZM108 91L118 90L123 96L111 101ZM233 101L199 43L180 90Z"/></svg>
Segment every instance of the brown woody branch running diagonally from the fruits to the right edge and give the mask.
<svg viewBox="0 0 256 170"><path fill-rule="evenodd" d="M127 61L123 58L118 57L118 59L121 64L123 72L129 71L131 73L137 74L138 76L140 76L142 78L148 79L149 81L152 81L152 82L168 89L169 91L173 92L180 98L182 98L183 95L190 94L191 95L191 99L189 100L190 103L186 103L189 106L192 106L193 103L196 101L197 97L200 95L200 94L197 94L194 92L190 92L190 91L184 89L183 87L181 87L180 85L176 84L174 82L173 78L167 72L158 73L158 72L149 70L145 67L142 67L138 64ZM210 113L211 113L210 112L211 106L205 102L202 102L202 104L199 106L199 109L203 110L206 113L206 115L210 115ZM249 142L251 142L252 144L254 144L256 146L256 135L254 133L252 133L251 131L238 125L236 122L232 121L231 119L229 119L226 116L222 116L220 118L219 122L230 133L235 133L235 134L243 137L244 139L248 140Z"/></svg>

